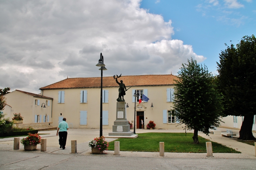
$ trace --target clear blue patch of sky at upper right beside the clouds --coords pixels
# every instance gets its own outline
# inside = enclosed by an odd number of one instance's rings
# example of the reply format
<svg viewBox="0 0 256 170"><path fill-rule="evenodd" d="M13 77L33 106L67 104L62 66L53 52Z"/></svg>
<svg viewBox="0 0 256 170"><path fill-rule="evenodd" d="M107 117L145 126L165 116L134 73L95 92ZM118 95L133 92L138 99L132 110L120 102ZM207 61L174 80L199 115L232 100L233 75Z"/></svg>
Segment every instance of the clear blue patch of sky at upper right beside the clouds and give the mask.
<svg viewBox="0 0 256 170"><path fill-rule="evenodd" d="M255 0L143 0L141 8L171 20L172 39L192 45L215 74L224 43L237 44L243 36L256 33Z"/></svg>

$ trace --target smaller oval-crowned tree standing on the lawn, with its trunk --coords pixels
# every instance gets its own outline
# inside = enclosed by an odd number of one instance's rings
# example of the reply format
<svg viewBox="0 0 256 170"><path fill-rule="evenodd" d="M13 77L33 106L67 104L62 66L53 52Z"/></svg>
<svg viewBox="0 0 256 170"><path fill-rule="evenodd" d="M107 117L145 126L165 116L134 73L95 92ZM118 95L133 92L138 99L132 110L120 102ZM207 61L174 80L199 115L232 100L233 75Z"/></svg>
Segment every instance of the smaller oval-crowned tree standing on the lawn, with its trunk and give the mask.
<svg viewBox="0 0 256 170"><path fill-rule="evenodd" d="M209 129L220 125L221 96L208 68L192 58L188 64L182 64L178 78L174 87L174 115L186 129L194 129L194 144L199 144L198 131L208 135Z"/></svg>

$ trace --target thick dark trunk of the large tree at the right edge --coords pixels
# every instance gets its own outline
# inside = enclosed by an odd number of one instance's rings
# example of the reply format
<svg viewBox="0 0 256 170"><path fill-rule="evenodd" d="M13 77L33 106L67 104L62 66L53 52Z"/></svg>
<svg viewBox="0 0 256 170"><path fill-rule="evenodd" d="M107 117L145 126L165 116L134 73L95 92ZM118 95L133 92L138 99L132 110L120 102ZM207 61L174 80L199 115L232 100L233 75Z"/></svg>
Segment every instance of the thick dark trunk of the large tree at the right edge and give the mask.
<svg viewBox="0 0 256 170"><path fill-rule="evenodd" d="M252 124L254 115L244 116L244 121L242 123L241 129L239 131L239 138L242 140L256 140L256 138L252 135Z"/></svg>

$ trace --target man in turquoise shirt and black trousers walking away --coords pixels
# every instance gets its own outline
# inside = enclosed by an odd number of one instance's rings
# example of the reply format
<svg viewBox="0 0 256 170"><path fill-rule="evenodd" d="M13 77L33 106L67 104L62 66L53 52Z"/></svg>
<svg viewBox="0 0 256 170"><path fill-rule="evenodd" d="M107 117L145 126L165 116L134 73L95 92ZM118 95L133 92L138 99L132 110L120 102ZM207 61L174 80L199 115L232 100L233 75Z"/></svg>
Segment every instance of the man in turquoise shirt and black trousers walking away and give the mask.
<svg viewBox="0 0 256 170"><path fill-rule="evenodd" d="M67 136L68 136L68 123L66 122L66 118L62 119L63 121L60 122L58 129L57 129L57 134L56 136L58 136L58 132L59 132L59 144L60 144L60 148L65 149L66 146L66 141L67 141Z"/></svg>

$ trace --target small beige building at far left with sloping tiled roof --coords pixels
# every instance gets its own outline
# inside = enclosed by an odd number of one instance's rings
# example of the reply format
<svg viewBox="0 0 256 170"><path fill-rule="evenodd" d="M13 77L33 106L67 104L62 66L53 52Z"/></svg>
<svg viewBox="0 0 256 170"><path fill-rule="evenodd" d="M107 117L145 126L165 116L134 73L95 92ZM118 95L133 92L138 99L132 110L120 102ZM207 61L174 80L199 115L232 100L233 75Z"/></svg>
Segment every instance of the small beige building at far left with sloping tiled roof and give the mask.
<svg viewBox="0 0 256 170"><path fill-rule="evenodd" d="M12 106L11 110L6 106L3 110L4 114L10 110L10 115L7 113L8 117L12 118L14 113L20 113L23 117L23 123L52 121L53 98L21 90L14 90L4 97L7 106Z"/></svg>

